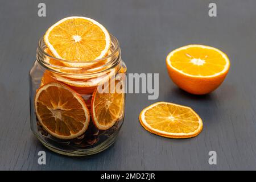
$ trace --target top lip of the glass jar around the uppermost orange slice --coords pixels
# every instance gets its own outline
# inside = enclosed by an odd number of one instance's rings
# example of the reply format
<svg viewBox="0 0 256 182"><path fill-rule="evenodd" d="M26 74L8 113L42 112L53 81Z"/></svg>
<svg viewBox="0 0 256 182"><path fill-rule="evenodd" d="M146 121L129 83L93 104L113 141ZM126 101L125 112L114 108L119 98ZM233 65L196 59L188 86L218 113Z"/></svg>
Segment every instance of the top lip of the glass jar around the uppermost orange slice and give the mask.
<svg viewBox="0 0 256 182"><path fill-rule="evenodd" d="M49 59L61 61L63 63L75 63L75 64L76 63L77 64L79 64L79 63L96 63L96 62L98 63L100 61L105 61L106 59L110 59L111 57L117 55L117 53L119 52L120 47L119 47L119 42L118 42L117 38L115 38L115 36L110 34L110 39L111 39L111 46L110 46L111 54L109 54L108 56L102 57L101 59L95 59L95 60L71 61L71 60L65 60L65 59L53 57L45 51L45 49L47 47L46 47L46 44L44 43L43 36L39 39L38 49L42 54L46 55Z"/></svg>

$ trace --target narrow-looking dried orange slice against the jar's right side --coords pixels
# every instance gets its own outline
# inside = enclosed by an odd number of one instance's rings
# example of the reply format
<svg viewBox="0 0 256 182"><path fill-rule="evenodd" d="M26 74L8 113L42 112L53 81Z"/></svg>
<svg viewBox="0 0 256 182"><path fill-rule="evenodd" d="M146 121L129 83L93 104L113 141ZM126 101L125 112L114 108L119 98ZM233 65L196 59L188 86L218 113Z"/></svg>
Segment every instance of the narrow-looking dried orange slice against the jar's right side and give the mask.
<svg viewBox="0 0 256 182"><path fill-rule="evenodd" d="M117 82L119 81L115 81L115 84ZM125 94L117 92L116 88L113 93L110 92L111 86L103 90L108 93L100 93L96 88L92 97L92 120L99 130L109 129L122 118L125 101Z"/></svg>

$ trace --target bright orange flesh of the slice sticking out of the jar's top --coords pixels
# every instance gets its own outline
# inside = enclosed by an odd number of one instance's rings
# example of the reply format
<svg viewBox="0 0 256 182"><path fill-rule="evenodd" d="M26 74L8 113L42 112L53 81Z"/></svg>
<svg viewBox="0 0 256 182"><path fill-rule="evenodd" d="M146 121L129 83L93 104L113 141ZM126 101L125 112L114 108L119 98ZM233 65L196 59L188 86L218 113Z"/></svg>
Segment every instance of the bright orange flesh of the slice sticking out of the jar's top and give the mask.
<svg viewBox="0 0 256 182"><path fill-rule="evenodd" d="M79 36L79 41L74 40ZM86 19L68 19L49 32L49 43L65 60L94 60L106 47L104 32Z"/></svg>

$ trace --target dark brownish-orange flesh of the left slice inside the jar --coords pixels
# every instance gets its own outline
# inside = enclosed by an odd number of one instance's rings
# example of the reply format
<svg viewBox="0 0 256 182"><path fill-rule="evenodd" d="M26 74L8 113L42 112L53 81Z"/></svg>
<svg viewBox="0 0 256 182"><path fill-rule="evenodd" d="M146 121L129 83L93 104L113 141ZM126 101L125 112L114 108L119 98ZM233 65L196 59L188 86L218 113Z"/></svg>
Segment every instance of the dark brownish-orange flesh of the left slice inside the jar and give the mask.
<svg viewBox="0 0 256 182"><path fill-rule="evenodd" d="M44 126L52 133L68 137L84 128L86 116L73 94L57 86L42 90L36 100L36 111Z"/></svg>

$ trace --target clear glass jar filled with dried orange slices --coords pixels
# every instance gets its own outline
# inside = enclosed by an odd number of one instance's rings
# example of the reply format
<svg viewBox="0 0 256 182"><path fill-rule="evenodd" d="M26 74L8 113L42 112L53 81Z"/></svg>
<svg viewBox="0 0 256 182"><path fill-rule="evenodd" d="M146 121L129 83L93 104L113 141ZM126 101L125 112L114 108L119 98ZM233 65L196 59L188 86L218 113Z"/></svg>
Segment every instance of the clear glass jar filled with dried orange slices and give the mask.
<svg viewBox="0 0 256 182"><path fill-rule="evenodd" d="M43 38L39 40L36 60L34 66L30 70L31 130L40 142L50 150L64 155L83 156L101 152L114 143L114 140L121 129L125 113L124 90L126 65L121 59L121 50L119 48L118 40L113 35L111 35L111 40L112 45L108 52L108 56L99 60L76 62L53 57L44 44ZM106 85L109 83L110 86L108 88L113 88L111 86L113 80L115 83L114 85L119 84L119 88L121 88L121 92L119 90L118 93L121 94L120 98L122 99L118 101L118 106L111 105L111 103L114 102L113 100L117 99L117 97L113 95L117 93L117 88L114 88L114 92L113 90L110 91L110 89L106 89ZM57 117L56 115L57 109L59 109L58 112L63 111L60 110L60 108L57 108L58 106L56 106L56 110L50 108L51 113L49 117L54 119L51 120L51 122L55 123L55 126L49 128L47 123L50 121L47 121L45 118L44 120L46 121L39 119L42 115L38 115L40 112L36 109L39 107L36 105L38 101L35 101L36 94L39 93L38 90L44 89L47 84L50 85L52 82L67 86L72 90L71 93L76 93L79 95L79 98L84 100L87 107L86 110L89 111L90 115L89 124L86 124L86 130L79 136L72 135L70 137L71 131L70 135L67 134L68 137L58 134L55 135L55 132L64 130L57 130L57 119L60 119L60 122L65 123L63 118ZM110 92L105 93L102 92L102 90L109 90ZM65 97L60 91L55 92L54 95L54 97L59 97L59 100L64 99L61 97ZM96 108L97 102L99 102L99 99L97 98L101 97L104 97L104 102L100 102L101 107ZM48 101L53 102L51 99ZM114 107L121 109L113 111ZM46 108L48 108L48 106L46 106ZM111 118L108 115L110 109L112 109L111 113L114 114L114 117L111 116L114 118L113 120L109 120L109 118ZM63 119L63 121L61 121L61 119ZM105 123L106 121L109 121L109 123ZM60 127L59 125L58 127Z"/></svg>

